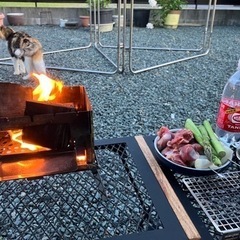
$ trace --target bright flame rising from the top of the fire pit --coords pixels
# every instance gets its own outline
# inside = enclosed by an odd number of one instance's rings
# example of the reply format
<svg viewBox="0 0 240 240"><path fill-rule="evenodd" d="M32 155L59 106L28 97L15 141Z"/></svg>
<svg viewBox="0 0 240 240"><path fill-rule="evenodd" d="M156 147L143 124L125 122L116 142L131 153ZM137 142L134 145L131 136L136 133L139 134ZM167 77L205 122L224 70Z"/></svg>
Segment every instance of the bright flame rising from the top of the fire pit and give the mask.
<svg viewBox="0 0 240 240"><path fill-rule="evenodd" d="M62 92L63 83L53 80L44 74L33 73L39 81L39 85L33 90L33 96L37 101L51 101Z"/></svg>

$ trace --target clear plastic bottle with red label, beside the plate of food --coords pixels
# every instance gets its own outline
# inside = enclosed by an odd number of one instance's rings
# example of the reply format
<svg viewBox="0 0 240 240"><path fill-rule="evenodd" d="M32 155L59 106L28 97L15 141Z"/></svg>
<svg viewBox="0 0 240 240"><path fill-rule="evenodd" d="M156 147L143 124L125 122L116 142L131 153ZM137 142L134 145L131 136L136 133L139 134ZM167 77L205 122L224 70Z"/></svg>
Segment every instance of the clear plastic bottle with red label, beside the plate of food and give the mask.
<svg viewBox="0 0 240 240"><path fill-rule="evenodd" d="M240 141L240 61L223 89L215 133L228 144Z"/></svg>

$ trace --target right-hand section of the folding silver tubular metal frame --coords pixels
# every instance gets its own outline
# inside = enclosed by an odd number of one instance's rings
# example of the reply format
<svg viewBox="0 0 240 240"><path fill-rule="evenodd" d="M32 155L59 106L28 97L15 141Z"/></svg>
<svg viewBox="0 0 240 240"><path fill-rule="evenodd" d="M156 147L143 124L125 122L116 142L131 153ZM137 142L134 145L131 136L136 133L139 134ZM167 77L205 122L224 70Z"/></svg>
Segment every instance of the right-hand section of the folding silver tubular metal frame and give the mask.
<svg viewBox="0 0 240 240"><path fill-rule="evenodd" d="M207 55L209 53L210 50L210 46L211 46L211 39L212 39L212 32L213 32L213 24L214 24L214 18L215 18L215 10L216 10L216 4L217 4L217 0L214 0L213 4L212 4L212 0L209 0L209 4L208 4L208 12L207 12L207 18L206 18L206 25L205 25L205 30L204 30L204 35L203 35L203 43L202 43L202 47L198 48L198 49L181 49L181 48L158 48L158 47L134 47L133 43L132 43L132 39L133 39L133 9L134 9L134 0L131 0L131 20L130 20L130 50L129 50L129 68L130 71L132 73L141 73L141 72L145 72L151 69L156 69L159 67L164 67L170 64L174 64L177 62L182 62L182 61L186 61L186 60L190 60L190 59L194 59L194 58L198 58L198 57L203 57L205 55ZM210 20L211 18L211 20ZM210 29L209 29L209 23L210 23ZM134 70L133 69L133 64L132 64L132 53L133 53L133 49L138 49L138 50L163 50L163 51L185 51L185 52L199 52L199 54L194 55L194 56L190 56L190 57L184 57L184 58L180 58L174 61L170 61L170 62L165 62L159 65L155 65L152 67L148 67L148 68L143 68L143 69L138 69L138 70ZM200 53L201 51L204 51L202 53Z"/></svg>

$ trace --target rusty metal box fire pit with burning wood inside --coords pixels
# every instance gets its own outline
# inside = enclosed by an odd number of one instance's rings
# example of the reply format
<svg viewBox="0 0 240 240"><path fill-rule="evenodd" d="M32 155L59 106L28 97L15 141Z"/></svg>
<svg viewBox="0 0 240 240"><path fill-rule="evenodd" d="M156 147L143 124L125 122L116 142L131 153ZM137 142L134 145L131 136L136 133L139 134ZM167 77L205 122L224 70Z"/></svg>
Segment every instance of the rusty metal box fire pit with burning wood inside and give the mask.
<svg viewBox="0 0 240 240"><path fill-rule="evenodd" d="M1 181L96 168L85 88L50 92L55 99L39 101L37 88L0 83Z"/></svg>

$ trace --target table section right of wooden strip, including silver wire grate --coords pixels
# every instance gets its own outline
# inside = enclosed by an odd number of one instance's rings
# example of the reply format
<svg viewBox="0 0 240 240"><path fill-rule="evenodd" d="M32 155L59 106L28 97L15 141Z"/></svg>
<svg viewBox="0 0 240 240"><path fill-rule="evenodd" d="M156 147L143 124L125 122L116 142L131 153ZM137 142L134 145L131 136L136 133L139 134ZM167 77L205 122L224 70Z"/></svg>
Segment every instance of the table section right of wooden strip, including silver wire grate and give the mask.
<svg viewBox="0 0 240 240"><path fill-rule="evenodd" d="M155 137L146 138L158 159L154 139ZM184 175L162 165L161 168L202 239L239 239L240 161L235 155L233 161L219 175L214 172L209 176Z"/></svg>

